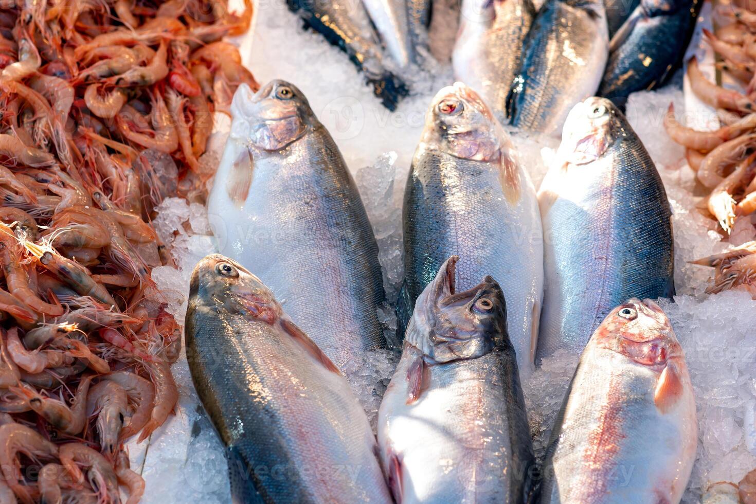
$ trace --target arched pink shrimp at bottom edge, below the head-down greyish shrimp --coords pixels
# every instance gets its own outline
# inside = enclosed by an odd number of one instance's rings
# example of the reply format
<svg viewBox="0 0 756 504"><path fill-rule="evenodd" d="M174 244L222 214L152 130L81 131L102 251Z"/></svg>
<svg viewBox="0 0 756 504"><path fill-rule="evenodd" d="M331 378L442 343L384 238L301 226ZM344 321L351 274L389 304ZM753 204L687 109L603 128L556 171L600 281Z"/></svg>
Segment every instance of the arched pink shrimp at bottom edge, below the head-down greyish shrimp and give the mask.
<svg viewBox="0 0 756 504"><path fill-rule="evenodd" d="M2 429L2 427L0 427ZM2 431L0 431L2 434ZM87 478L92 488L98 492L103 502L118 500L118 479L110 462L96 450L85 444L68 443L60 446L60 463L64 465L73 481L84 483L84 475L79 465L87 469Z"/></svg>

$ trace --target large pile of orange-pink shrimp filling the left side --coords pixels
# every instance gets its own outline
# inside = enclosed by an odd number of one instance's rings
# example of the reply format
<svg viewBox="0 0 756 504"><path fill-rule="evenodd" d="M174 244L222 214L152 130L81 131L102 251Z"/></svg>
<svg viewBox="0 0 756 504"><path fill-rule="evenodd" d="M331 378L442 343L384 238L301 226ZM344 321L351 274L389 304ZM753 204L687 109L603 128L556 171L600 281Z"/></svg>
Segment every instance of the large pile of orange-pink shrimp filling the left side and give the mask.
<svg viewBox="0 0 756 504"><path fill-rule="evenodd" d="M213 114L259 88L218 0L0 0L0 504L144 492L124 443L172 413L181 327L151 226L202 201Z"/></svg>

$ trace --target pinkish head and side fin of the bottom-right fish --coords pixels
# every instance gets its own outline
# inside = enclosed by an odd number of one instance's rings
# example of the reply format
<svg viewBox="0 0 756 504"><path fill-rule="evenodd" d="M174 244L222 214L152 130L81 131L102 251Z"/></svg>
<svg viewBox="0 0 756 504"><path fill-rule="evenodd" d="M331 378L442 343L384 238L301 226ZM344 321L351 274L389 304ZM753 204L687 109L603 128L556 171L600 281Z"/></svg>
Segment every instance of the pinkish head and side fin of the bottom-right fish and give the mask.
<svg viewBox="0 0 756 504"><path fill-rule="evenodd" d="M650 299L631 298L612 310L589 345L621 354L655 373L653 400L662 413L673 410L692 388L683 348L667 315Z"/></svg>

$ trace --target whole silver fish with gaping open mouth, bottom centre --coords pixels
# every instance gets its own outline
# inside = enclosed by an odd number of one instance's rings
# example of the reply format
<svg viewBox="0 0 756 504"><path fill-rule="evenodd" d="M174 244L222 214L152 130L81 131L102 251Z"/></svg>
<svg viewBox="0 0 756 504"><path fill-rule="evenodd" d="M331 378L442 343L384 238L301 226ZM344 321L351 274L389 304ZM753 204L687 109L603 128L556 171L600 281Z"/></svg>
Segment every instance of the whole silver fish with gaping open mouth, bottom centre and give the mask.
<svg viewBox="0 0 756 504"><path fill-rule="evenodd" d="M378 413L383 467L402 504L527 502L533 449L507 306L492 277L457 292L456 264L417 298Z"/></svg>

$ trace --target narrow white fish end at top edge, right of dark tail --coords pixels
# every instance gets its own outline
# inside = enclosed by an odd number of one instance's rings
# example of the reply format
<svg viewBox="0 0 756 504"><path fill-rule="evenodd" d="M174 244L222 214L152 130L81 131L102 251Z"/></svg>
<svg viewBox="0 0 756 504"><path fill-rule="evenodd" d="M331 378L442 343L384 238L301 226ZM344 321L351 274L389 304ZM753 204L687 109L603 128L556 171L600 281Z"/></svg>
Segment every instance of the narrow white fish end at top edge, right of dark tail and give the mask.
<svg viewBox="0 0 756 504"><path fill-rule="evenodd" d="M362 0L386 50L404 68L415 59L404 0Z"/></svg>

